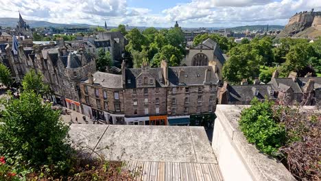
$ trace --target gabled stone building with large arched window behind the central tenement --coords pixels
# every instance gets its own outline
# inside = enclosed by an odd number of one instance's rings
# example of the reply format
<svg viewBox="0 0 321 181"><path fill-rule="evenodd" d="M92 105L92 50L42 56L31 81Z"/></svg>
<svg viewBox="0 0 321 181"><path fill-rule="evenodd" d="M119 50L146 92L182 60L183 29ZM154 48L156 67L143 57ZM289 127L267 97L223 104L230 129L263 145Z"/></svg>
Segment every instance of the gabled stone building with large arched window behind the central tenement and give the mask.
<svg viewBox="0 0 321 181"><path fill-rule="evenodd" d="M204 40L200 45L187 49L187 55L181 64L186 66L209 66L215 64L215 72L220 75L225 62L223 51L217 43L210 38Z"/></svg>

